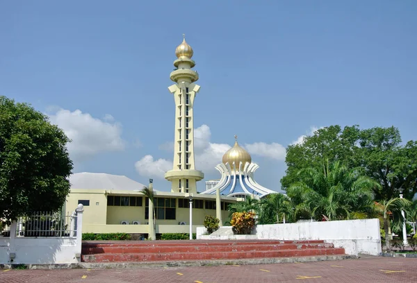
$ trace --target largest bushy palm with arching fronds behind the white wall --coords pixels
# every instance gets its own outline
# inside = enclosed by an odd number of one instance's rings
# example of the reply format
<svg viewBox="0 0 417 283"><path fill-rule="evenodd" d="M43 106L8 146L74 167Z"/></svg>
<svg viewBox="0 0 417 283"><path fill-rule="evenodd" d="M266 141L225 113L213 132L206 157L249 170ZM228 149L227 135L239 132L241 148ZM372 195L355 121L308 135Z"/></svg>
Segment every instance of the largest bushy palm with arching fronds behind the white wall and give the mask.
<svg viewBox="0 0 417 283"><path fill-rule="evenodd" d="M361 175L359 169L327 161L322 171L302 169L298 176L300 182L287 190L295 210L310 211L316 220L363 218L373 212L372 191L379 184Z"/></svg>

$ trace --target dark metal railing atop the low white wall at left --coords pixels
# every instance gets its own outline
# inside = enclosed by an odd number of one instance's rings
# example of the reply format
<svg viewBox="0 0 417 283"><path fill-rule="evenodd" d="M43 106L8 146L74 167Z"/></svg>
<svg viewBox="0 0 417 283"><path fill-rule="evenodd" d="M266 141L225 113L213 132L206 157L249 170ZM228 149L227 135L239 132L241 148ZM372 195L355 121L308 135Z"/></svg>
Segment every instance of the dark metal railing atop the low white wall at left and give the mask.
<svg viewBox="0 0 417 283"><path fill-rule="evenodd" d="M17 218L16 237L75 237L76 214L33 212Z"/></svg>

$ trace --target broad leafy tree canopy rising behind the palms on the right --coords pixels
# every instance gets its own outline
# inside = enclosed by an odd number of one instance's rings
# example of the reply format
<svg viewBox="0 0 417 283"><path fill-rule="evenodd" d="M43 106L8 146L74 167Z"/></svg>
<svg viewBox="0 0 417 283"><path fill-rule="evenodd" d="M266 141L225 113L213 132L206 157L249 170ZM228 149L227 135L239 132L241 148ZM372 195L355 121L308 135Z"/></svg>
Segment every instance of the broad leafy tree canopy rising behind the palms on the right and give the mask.
<svg viewBox="0 0 417 283"><path fill-rule="evenodd" d="M339 161L348 168L362 167L368 177L381 186L374 188L375 199L395 198L404 191L404 198L417 193L417 141L400 145L397 128L359 126L329 126L304 137L301 144L288 146L286 175L281 179L282 189L299 181L301 169L320 169L325 160Z"/></svg>

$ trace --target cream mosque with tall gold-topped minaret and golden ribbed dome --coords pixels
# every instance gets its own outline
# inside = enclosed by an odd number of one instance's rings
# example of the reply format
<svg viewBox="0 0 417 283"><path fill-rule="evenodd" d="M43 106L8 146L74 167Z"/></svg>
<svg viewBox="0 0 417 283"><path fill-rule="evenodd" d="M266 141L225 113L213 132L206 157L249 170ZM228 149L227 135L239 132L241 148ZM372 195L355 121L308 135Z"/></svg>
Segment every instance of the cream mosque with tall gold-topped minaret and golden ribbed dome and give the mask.
<svg viewBox="0 0 417 283"><path fill-rule="evenodd" d="M70 176L71 191L65 207L67 214L71 214L76 205L84 205L83 232L148 234L153 239L156 234L184 233L190 229L195 232L203 225L206 215L219 218L222 225L222 219L229 215L230 203L248 196L263 198L277 194L254 180L259 166L239 146L236 135L234 146L215 167L221 175L217 185L197 192L197 182L204 179L204 173L195 168L193 111L200 86L195 83L199 74L193 70L193 53L184 35L175 50L176 69L170 74L174 84L168 87L175 103L174 160L172 170L165 173L165 179L171 182L171 191L154 190L152 203L140 192L145 185L126 176L75 173ZM149 187L153 187L152 179ZM153 205L156 227L149 221Z"/></svg>

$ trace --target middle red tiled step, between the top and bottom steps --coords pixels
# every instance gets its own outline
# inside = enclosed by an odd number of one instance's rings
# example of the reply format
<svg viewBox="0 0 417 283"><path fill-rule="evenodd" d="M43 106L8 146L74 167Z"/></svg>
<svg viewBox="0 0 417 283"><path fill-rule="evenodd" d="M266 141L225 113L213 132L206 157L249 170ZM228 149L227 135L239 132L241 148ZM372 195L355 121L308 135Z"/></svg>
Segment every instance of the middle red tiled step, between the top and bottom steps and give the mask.
<svg viewBox="0 0 417 283"><path fill-rule="evenodd" d="M262 250L300 250L307 248L333 248L332 243L280 243L280 244L258 244L252 245L222 245L222 246L102 246L98 248L87 248L83 246L83 255L93 255L101 253L170 253L170 252L245 252L245 251L262 251Z"/></svg>

